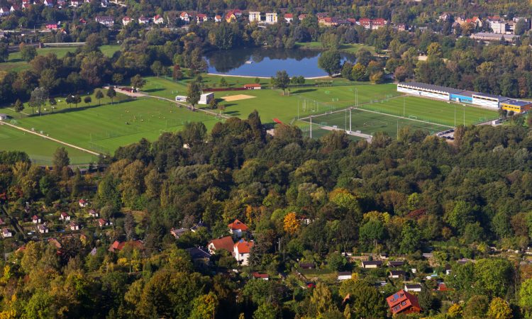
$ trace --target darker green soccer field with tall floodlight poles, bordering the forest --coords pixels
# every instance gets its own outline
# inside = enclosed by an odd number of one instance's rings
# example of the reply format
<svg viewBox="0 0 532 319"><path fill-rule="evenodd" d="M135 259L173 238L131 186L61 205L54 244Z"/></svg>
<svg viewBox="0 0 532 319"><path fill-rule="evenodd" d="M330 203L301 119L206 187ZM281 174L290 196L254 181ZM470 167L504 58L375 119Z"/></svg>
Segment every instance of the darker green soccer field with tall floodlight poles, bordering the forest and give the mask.
<svg viewBox="0 0 532 319"><path fill-rule="evenodd" d="M304 121L305 123L309 123L309 118L305 118ZM389 116L383 113L375 113L355 108L351 111L351 127L349 126L348 110L313 116L312 123L313 125L316 125L316 127L332 126L333 128L338 128L340 130L349 130L351 128L353 131L360 131L361 133L369 135L374 135L377 132L385 132L394 138L397 137L397 131L405 126L409 126L414 130L424 130L430 134L450 128L446 125L424 123L408 118L399 118L397 116Z"/></svg>

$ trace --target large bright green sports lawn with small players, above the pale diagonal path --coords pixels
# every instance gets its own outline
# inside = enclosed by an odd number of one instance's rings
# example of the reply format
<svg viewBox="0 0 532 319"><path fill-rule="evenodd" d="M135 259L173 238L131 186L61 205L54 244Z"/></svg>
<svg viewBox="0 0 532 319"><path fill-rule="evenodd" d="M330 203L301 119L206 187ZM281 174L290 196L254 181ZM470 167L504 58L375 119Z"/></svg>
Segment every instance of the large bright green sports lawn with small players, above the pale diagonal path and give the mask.
<svg viewBox="0 0 532 319"><path fill-rule="evenodd" d="M54 113L43 116L19 118L9 109L1 111L13 116L12 121L23 128L43 131L50 137L104 153L112 153L119 146L138 142L141 138L156 140L162 132L180 130L187 122L201 121L210 129L218 121L202 112L178 108L169 101L128 100L122 94L119 96L114 104L104 99L101 106L94 102L92 106L78 108L67 108L61 101ZM28 155L33 157L34 154L28 150Z"/></svg>

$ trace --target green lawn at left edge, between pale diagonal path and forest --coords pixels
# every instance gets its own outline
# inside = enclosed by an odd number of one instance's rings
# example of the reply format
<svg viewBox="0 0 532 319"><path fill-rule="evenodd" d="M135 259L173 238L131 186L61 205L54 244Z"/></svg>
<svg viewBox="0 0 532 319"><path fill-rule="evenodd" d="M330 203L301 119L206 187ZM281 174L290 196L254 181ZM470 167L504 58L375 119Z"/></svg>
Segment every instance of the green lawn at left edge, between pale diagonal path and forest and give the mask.
<svg viewBox="0 0 532 319"><path fill-rule="evenodd" d="M28 155L31 155L31 159L36 164L52 164L52 155L57 147L65 147L68 151L71 164L84 164L95 162L97 160L96 157L87 152L82 152L45 138L40 138L37 135L25 133L7 125L0 125L0 143L1 150L26 152Z"/></svg>

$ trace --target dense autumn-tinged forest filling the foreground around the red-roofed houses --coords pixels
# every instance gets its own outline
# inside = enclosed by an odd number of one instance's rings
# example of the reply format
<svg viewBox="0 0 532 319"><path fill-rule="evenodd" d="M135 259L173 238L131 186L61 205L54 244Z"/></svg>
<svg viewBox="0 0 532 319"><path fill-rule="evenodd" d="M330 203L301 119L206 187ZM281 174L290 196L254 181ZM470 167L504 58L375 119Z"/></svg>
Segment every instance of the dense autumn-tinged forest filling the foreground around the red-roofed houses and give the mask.
<svg viewBox="0 0 532 319"><path fill-rule="evenodd" d="M272 137L255 112L210 134L190 123L121 147L101 160L104 172L72 172L62 149L49 168L1 152L11 218L72 213L84 208L69 203L85 198L113 222L52 241L4 239L4 250L16 251L3 262L1 316L384 318L384 298L402 281L376 289L384 270L359 269L345 254L374 252L401 256L420 273L450 269L447 293L423 277L422 313L409 318L528 318L531 264L503 252L521 256L531 242L532 135L521 122L460 127L455 138L403 128L397 140L377 134L371 144L339 131L311 140L289 125ZM249 266L224 253L208 268L193 264L184 249L228 235L235 218L255 242ZM198 223L196 232L170 235ZM115 240L142 244L108 250ZM431 250L429 264L421 254ZM455 262L463 258L475 262ZM307 288L294 274L301 262L351 270L353 279ZM250 279L252 272L284 279Z"/></svg>

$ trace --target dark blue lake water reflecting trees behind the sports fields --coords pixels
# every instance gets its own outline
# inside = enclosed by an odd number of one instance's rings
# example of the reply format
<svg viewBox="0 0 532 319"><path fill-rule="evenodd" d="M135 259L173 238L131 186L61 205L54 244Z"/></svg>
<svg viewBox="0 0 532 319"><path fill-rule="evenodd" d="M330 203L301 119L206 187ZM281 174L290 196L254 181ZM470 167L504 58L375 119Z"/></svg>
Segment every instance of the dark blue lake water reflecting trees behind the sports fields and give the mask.
<svg viewBox="0 0 532 319"><path fill-rule="evenodd" d="M290 77L325 77L327 72L318 67L321 54L317 50L251 48L214 51L206 55L209 73L242 75L248 77L273 77L285 70ZM354 61L351 56L343 60Z"/></svg>

